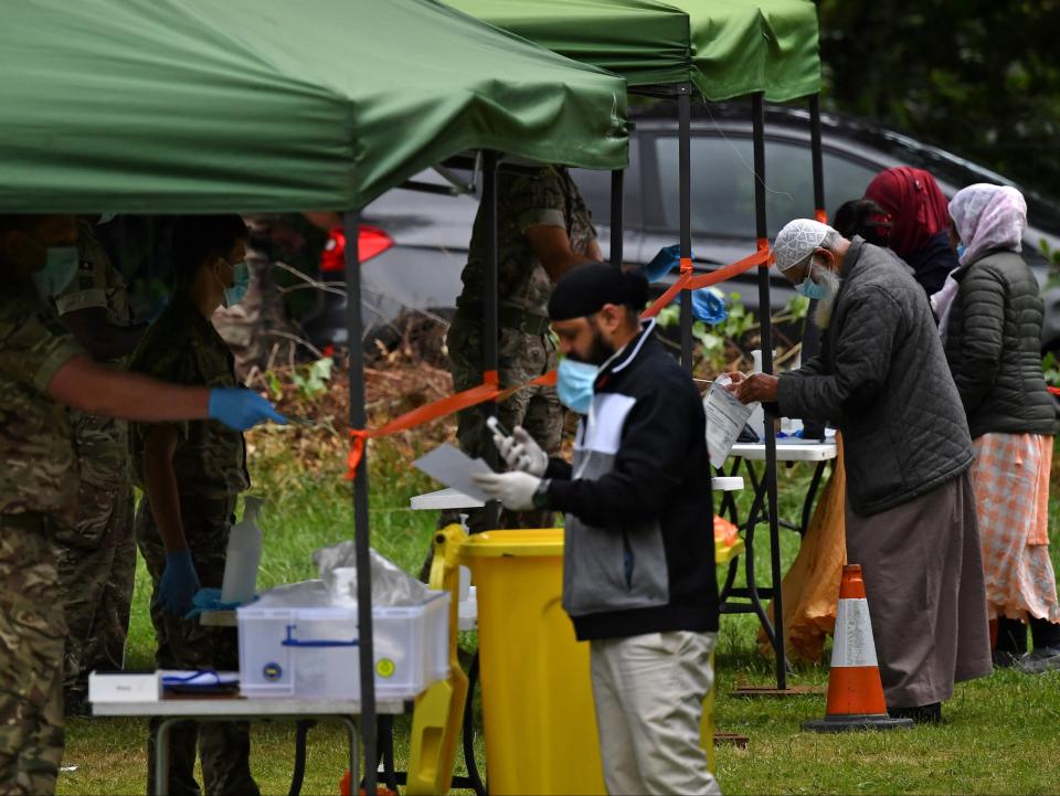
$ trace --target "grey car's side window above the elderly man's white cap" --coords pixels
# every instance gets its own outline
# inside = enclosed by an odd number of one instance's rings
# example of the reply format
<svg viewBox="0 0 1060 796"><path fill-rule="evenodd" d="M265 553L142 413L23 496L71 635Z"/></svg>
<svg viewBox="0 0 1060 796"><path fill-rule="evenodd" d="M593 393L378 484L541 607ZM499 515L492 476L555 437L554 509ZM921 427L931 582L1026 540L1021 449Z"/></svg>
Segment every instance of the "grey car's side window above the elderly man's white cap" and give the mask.
<svg viewBox="0 0 1060 796"><path fill-rule="evenodd" d="M678 219L677 137L655 139L664 223ZM698 235L754 237L754 153L750 138L699 136L691 141L692 231ZM772 237L792 219L814 217L814 183L808 146L767 140L766 223ZM876 170L831 152L824 155L828 208L861 197Z"/></svg>

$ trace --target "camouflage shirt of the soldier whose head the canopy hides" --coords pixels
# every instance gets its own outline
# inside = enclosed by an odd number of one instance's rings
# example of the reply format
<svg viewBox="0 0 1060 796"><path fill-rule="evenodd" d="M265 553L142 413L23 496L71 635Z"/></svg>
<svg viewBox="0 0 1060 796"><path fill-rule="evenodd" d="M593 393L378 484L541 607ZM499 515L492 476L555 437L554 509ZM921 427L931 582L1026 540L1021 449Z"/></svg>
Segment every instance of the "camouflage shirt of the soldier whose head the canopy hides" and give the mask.
<svg viewBox="0 0 1060 796"><path fill-rule="evenodd" d="M538 261L526 232L531 226L558 226L566 231L571 248L585 254L596 240L589 208L577 185L563 167L550 166L538 176L497 176L497 270L500 303L540 316L548 316L552 283ZM481 301L486 251L483 212L475 217L467 265L462 279L464 290L458 305Z"/></svg>

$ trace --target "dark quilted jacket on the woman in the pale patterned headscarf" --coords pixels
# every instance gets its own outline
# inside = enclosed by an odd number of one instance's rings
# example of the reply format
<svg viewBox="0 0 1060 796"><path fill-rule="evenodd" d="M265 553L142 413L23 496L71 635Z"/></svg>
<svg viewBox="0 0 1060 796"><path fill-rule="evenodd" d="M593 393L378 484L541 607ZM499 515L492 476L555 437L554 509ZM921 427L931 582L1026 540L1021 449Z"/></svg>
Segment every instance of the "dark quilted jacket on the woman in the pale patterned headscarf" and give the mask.
<svg viewBox="0 0 1060 796"><path fill-rule="evenodd" d="M1056 434L1056 402L1041 373L1045 306L1030 267L1015 252L992 252L954 278L946 359L973 438Z"/></svg>

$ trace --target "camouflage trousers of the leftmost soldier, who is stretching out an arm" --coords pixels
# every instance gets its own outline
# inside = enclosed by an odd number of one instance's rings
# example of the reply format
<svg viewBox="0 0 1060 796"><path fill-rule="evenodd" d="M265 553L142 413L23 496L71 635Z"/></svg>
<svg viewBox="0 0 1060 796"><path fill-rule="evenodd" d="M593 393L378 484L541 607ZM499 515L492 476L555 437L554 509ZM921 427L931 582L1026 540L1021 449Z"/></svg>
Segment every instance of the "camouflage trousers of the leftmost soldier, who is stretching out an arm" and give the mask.
<svg viewBox="0 0 1060 796"><path fill-rule="evenodd" d="M63 757L59 571L40 514L0 516L0 794L51 794Z"/></svg>

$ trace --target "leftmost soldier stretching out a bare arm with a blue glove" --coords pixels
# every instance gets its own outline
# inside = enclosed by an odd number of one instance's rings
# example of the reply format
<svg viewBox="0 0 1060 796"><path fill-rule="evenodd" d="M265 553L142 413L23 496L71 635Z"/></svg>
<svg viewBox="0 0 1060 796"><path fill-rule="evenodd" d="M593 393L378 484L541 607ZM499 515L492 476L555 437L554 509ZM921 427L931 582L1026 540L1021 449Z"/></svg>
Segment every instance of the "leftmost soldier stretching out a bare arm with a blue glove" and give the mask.
<svg viewBox="0 0 1060 796"><path fill-rule="evenodd" d="M77 461L63 405L142 422L284 422L243 390L162 384L95 364L33 282L76 269L73 215L0 215L0 795L51 794L63 754L66 626L51 533L74 519ZM60 250L50 256L52 250ZM34 279L30 278L33 275ZM60 277L63 278L60 278Z"/></svg>

